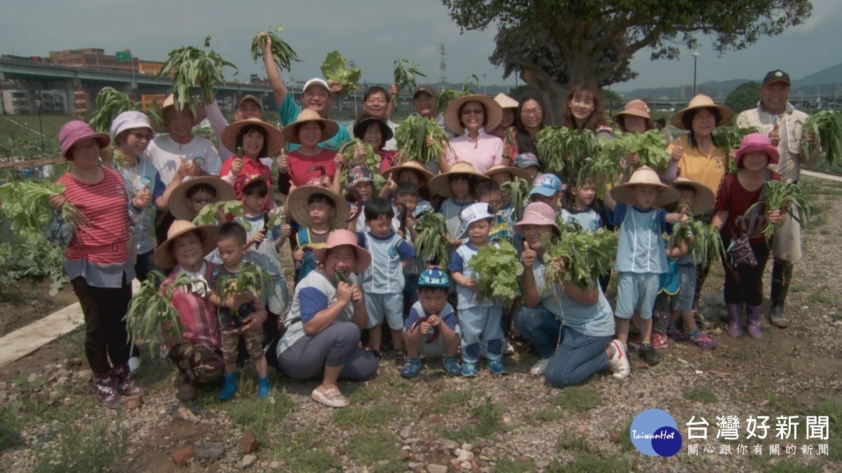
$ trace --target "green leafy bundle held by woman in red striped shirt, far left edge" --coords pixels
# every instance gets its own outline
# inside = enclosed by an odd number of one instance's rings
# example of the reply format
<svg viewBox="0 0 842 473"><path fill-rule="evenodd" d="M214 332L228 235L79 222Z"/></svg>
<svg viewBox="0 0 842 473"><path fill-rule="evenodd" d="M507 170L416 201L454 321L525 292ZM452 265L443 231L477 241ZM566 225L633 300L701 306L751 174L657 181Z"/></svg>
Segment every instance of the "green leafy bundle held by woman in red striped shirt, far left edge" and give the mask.
<svg viewBox="0 0 842 473"><path fill-rule="evenodd" d="M40 233L44 226L53 218L53 208L50 206L50 196L65 191L64 184L34 181L19 183L5 183L0 186L0 210L3 210L12 220L12 230L19 234L27 231ZM69 225L72 231L83 224L86 219L76 205L65 202L59 212L61 220Z"/></svg>

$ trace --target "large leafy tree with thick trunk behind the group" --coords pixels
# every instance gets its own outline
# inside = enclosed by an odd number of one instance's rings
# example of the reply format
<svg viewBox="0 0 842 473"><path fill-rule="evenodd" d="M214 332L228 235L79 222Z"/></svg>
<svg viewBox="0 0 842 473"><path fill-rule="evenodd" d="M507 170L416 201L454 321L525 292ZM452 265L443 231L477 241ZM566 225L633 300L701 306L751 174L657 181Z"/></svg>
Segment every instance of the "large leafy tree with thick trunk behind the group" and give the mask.
<svg viewBox="0 0 842 473"><path fill-rule="evenodd" d="M722 54L762 35L780 35L813 11L809 0L442 0L462 31L496 25L490 57L520 77L561 122L575 83L607 86L637 76L629 61L650 48L653 61L676 59L706 35Z"/></svg>

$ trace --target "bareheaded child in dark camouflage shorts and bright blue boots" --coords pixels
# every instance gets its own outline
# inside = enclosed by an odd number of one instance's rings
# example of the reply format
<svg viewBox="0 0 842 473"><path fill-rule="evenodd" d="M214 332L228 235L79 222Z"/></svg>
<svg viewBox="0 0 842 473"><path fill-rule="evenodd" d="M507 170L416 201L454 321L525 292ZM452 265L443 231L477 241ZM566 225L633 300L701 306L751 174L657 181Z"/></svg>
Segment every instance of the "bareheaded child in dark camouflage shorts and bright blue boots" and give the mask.
<svg viewBox="0 0 842 473"><path fill-rule="evenodd" d="M236 277L242 266L242 257L247 248L246 231L236 222L226 222L216 233L216 247L222 264L210 274L210 303L219 307L221 325L222 359L225 360L225 385L216 397L221 401L231 399L237 393L237 344L240 337L245 340L248 356L254 361L258 372L258 398L269 395L266 356L263 349L263 322L266 311L258 300L248 293L238 293L220 299L223 278Z"/></svg>

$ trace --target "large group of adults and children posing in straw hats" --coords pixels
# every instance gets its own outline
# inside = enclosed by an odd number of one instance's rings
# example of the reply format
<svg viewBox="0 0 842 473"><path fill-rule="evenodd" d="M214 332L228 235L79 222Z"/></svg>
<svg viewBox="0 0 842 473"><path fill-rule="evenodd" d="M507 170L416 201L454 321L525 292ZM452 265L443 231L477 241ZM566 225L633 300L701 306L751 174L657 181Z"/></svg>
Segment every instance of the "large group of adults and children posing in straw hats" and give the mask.
<svg viewBox="0 0 842 473"><path fill-rule="evenodd" d="M220 379L218 397L230 399L237 392L237 362L251 359L258 396L271 391L267 372L273 367L297 380L321 380L312 399L345 407L349 401L338 380L374 377L390 338L400 375L413 378L424 366L422 356L441 357L446 375L477 376L482 359L492 375L505 375L510 340L523 337L539 354L530 372L555 386L578 384L604 369L625 379L629 346L647 364L658 363L655 348L670 339L714 348L701 332L709 322L696 310L711 262L697 268L686 244L672 246L665 238L673 226L688 225L687 210L717 227L726 245L747 240L754 253L754 265L722 260L729 335L741 335L744 305L749 336L761 336L762 278L770 255L770 322L788 325L784 305L792 264L801 258L800 228L791 213L778 209L746 215L765 182L797 182L807 159L800 148L803 114L787 102L785 72L770 72L757 109L738 116L739 126L756 126L759 133L746 136L733 157L711 140L733 111L698 95L670 120L686 133L669 144L666 171L658 175L629 155L624 164L633 173L598 200L604 183L562 183L541 173L536 135L548 114L539 98L472 94L440 114L434 88L418 88L417 113L445 126L452 138L434 161L397 162L390 120L396 86L369 88L365 113L348 130L329 118L338 86L313 78L296 104L268 50L264 61L280 130L262 120L260 100L246 95L231 124L216 102L178 109L169 97L163 123L140 112L116 117L113 146L109 136L81 121L59 133L72 168L58 180L67 190L51 196L56 217L46 233L67 245L68 277L85 316L85 351L105 405L116 407L120 396L142 392L131 380L132 347L122 318L131 280L146 279L152 268L168 272L157 283L179 313L181 337L169 340L163 353L179 371L182 401L195 399L198 385ZM562 116L574 130L614 133L594 86L573 87ZM192 133L205 118L218 152ZM640 100L612 118L626 133L655 127ZM370 145L379 166L366 166L363 145L338 153L352 137ZM731 159L738 171L727 174ZM385 183L376 184L378 174ZM520 215L505 185L514 178L530 185ZM277 193L285 200L276 202ZM233 199L242 203L237 216L215 205ZM65 202L82 212L82 223L61 220ZM272 223L278 203L284 224ZM208 205L214 205L216 224L195 225ZM446 266L420 258L413 245L425 212L443 215ZM772 242L760 233L767 221L778 227ZM562 228L571 231L565 224L573 222L578 231L607 226L619 233L614 308L605 297L610 274L593 274L588 287L545 282L546 242L561 236ZM525 268L522 294L511 309L478 297L470 264L482 247L504 240L518 249ZM280 258L286 244L294 268ZM268 279L258 295L226 285L247 264ZM295 278L291 296L289 274ZM192 284L173 285L182 276Z"/></svg>

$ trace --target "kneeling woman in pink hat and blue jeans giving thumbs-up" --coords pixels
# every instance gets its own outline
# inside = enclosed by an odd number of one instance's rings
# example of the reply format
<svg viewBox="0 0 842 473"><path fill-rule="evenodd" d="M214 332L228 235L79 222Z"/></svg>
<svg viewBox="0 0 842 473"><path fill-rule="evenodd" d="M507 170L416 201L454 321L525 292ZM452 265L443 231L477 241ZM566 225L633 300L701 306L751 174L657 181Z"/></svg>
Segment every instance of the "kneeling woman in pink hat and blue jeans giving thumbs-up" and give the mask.
<svg viewBox="0 0 842 473"><path fill-rule="evenodd" d="M561 234L549 205L536 202L526 206L524 218L514 231L524 237L525 250L523 295L528 308L520 314L520 327L544 327L549 336L554 332L560 344L544 364L543 373L551 385L577 385L597 371L609 368L614 377L623 380L629 375L626 351L614 337L614 316L599 284L588 290L566 284L562 290L544 290L544 247L542 237ZM557 295L557 298L556 298ZM563 314L563 322L559 322ZM528 318L530 320L524 320ZM517 323L517 322L516 322ZM531 339L531 337L524 333ZM539 362L541 363L541 362ZM536 373L538 371L538 373ZM539 374L540 369L533 370Z"/></svg>

